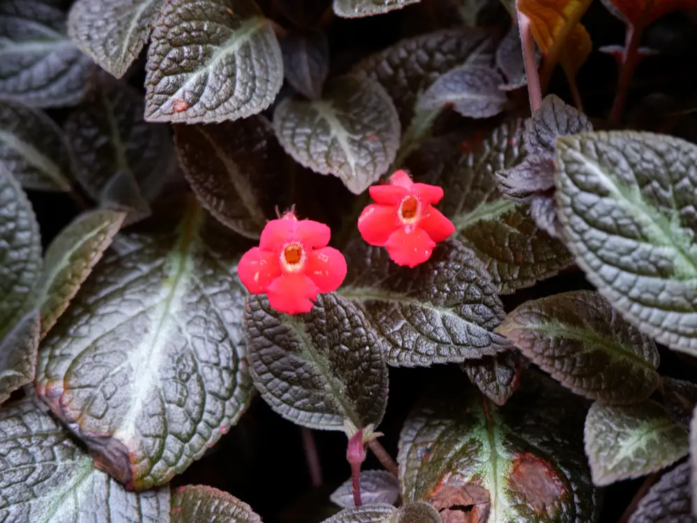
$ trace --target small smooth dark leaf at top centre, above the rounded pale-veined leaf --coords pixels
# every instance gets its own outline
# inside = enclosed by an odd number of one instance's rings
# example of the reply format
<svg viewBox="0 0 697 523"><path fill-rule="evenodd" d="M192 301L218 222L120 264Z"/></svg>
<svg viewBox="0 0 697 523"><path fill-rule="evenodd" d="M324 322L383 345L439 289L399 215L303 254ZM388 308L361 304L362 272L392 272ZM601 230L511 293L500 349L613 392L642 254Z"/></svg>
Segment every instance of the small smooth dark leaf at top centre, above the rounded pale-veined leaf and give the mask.
<svg viewBox="0 0 697 523"><path fill-rule="evenodd" d="M321 31L289 31L281 40L283 71L293 89L310 100L322 96L329 75L329 42Z"/></svg>

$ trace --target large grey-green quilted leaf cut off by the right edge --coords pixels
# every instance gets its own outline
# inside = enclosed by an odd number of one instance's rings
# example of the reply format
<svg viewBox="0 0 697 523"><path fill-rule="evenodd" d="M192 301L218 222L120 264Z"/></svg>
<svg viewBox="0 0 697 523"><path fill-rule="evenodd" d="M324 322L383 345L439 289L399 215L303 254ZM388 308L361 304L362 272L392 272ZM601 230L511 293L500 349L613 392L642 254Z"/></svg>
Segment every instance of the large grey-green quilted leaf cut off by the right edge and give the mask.
<svg viewBox="0 0 697 523"><path fill-rule="evenodd" d="M640 132L557 140L567 247L615 309L675 350L697 354L697 146Z"/></svg>

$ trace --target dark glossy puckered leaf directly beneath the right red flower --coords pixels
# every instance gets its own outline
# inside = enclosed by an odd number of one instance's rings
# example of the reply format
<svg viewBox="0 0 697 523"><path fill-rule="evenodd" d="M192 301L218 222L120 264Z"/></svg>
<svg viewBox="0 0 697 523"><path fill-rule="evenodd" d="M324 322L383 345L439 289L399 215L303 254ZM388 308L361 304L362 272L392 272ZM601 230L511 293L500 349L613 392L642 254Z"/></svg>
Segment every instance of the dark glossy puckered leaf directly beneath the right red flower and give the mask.
<svg viewBox="0 0 697 523"><path fill-rule="evenodd" d="M431 366L495 354L510 344L491 332L503 304L473 253L447 242L410 269L381 247L357 240L344 252L342 296L361 304L392 366Z"/></svg>

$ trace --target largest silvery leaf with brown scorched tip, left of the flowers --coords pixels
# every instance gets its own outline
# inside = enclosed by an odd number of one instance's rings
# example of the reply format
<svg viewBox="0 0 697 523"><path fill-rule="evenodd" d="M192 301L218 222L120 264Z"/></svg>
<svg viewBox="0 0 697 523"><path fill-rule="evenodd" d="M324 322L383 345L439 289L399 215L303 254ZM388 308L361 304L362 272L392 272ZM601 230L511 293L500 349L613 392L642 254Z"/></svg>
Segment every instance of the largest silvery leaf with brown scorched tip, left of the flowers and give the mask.
<svg viewBox="0 0 697 523"><path fill-rule="evenodd" d="M200 458L252 392L238 247L191 202L171 223L114 242L44 338L37 370L53 412L137 490Z"/></svg>

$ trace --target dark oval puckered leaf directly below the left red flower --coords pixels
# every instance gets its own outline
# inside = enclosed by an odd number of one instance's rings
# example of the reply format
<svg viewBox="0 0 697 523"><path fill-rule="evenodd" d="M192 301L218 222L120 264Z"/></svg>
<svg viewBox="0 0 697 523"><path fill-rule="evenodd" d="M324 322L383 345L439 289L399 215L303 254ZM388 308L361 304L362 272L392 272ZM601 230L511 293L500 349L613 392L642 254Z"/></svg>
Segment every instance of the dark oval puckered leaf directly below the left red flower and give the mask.
<svg viewBox="0 0 697 523"><path fill-rule="evenodd" d="M250 295L245 326L254 385L281 416L323 430L380 423L388 369L358 306L330 293L311 312L287 315L266 295Z"/></svg>

